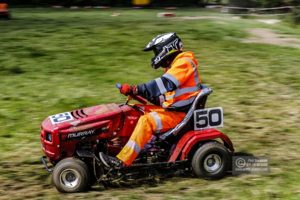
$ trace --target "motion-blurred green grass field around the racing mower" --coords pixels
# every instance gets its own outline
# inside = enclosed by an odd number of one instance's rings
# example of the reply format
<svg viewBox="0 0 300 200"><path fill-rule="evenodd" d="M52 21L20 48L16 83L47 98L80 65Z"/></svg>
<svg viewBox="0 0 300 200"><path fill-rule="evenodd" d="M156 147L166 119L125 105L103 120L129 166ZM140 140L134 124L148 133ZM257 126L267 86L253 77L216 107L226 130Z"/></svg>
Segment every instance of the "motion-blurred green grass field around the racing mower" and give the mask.
<svg viewBox="0 0 300 200"><path fill-rule="evenodd" d="M271 28L299 37L286 22L265 24L205 9L164 10L15 8L0 20L0 199L299 199L300 49L241 43L246 28ZM110 16L120 11L120 16ZM42 120L85 106L123 102L115 83L160 76L141 49L159 33L176 31L198 60L222 106L224 127L239 153L269 156L271 172L209 181L173 177L158 184L61 194L44 169Z"/></svg>

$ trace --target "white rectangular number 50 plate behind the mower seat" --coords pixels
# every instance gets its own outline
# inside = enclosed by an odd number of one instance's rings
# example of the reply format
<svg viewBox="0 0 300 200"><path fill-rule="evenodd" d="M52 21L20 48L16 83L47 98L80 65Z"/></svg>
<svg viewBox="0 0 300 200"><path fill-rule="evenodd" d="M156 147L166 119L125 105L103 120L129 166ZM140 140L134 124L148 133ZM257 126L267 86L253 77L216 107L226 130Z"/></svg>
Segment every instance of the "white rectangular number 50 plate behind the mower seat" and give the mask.
<svg viewBox="0 0 300 200"><path fill-rule="evenodd" d="M223 126L222 107L197 109L194 111L194 130Z"/></svg>

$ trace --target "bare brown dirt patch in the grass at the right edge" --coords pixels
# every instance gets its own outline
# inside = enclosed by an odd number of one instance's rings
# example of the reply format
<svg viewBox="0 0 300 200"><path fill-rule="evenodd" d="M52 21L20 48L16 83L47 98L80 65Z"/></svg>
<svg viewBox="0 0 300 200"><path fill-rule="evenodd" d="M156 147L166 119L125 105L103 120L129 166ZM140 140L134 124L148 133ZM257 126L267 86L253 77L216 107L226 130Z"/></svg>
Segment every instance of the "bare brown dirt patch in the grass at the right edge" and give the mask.
<svg viewBox="0 0 300 200"><path fill-rule="evenodd" d="M256 35L258 37L249 37L247 39L243 39L242 42L245 43L266 43L266 44L274 44L280 46L291 46L300 48L300 39L299 38L291 38L288 34L277 34L273 33L272 29L268 28L251 28L248 31Z"/></svg>

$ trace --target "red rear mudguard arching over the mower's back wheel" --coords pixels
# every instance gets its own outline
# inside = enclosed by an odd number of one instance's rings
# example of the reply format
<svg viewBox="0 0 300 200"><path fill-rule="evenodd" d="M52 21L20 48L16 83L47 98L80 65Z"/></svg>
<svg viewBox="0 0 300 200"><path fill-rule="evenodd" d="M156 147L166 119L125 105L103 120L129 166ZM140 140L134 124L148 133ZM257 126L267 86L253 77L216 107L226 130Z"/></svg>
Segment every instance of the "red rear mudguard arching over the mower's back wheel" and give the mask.
<svg viewBox="0 0 300 200"><path fill-rule="evenodd" d="M178 155L181 152L180 160L187 158L190 149L199 141L210 140L215 138L221 138L224 144L231 150L234 151L231 140L227 135L221 133L220 131L210 128L204 130L191 130L185 133L181 139L177 142L175 149L173 150L169 162L177 160Z"/></svg>

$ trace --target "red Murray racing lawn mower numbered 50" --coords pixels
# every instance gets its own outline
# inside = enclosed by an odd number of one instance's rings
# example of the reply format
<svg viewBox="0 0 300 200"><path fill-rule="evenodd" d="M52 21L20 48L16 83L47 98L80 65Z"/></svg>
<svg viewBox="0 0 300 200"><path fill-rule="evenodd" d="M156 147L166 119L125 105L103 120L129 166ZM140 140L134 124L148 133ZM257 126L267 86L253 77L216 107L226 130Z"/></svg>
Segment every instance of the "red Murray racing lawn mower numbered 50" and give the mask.
<svg viewBox="0 0 300 200"><path fill-rule="evenodd" d="M115 156L126 144L144 114L142 106L147 101L142 97L129 95L125 103L101 104L47 117L40 129L45 154L41 160L52 173L52 183L60 192L78 192L95 183L125 183L157 173L222 177L229 165L229 150L234 149L230 139L214 129L223 125L222 108L204 109L212 90L201 87L184 119L166 132L153 133L129 166L106 168L99 152ZM131 99L141 104L128 104Z"/></svg>

